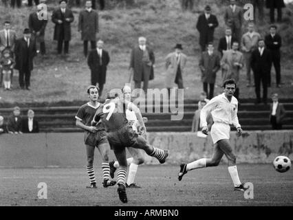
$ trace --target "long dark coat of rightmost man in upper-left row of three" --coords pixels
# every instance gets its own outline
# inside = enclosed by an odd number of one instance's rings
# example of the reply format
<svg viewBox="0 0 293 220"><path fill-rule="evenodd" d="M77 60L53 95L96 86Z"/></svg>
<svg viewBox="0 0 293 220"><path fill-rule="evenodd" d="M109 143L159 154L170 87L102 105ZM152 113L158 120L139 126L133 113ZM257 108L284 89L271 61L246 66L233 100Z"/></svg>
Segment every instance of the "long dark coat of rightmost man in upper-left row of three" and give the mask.
<svg viewBox="0 0 293 220"><path fill-rule="evenodd" d="M96 41L98 33L98 12L83 10L78 18L78 31L81 32L82 41Z"/></svg>

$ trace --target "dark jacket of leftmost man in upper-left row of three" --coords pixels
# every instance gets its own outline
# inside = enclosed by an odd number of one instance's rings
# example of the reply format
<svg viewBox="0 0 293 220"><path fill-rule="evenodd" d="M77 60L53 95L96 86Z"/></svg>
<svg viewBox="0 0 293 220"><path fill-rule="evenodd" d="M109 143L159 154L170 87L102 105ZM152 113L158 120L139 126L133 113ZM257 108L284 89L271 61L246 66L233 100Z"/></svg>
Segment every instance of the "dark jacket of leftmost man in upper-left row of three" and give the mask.
<svg viewBox="0 0 293 220"><path fill-rule="evenodd" d="M30 14L30 17L28 18L28 27L30 28L30 31L32 32L32 34L35 34L36 32L40 32L40 35L36 37L41 41L45 41L44 36L45 36L46 25L47 25L47 20L45 19L40 20L36 12L32 12Z"/></svg>

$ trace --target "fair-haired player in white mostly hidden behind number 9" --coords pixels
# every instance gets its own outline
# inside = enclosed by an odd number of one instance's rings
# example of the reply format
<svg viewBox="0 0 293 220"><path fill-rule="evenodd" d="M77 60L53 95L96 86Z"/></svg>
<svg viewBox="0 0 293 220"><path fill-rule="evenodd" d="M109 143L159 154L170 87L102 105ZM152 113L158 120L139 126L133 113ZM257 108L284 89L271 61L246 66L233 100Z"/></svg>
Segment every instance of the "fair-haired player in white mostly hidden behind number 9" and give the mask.
<svg viewBox="0 0 293 220"><path fill-rule="evenodd" d="M122 93L123 93L124 99L131 101L131 87L129 87L128 85L125 85L122 88ZM131 104L131 102L129 102L129 104ZM138 119L136 118L135 112L129 110L131 109L129 107L129 104L126 110L126 118L129 124L131 124L133 131L137 131L138 133L140 133L140 131L138 131L138 127L140 127L140 124L138 123ZM144 119L144 122L147 121L147 118L143 118L143 119ZM129 173L127 177L126 187L140 188L140 186L134 183L134 179L138 170L138 165L144 163L144 152L142 149L139 149L139 148L127 147L127 149L132 157L127 159L127 165L129 166ZM113 161L113 162L109 162L109 165L110 165L110 176L113 178L116 169L119 167L119 163L117 161L115 162Z"/></svg>

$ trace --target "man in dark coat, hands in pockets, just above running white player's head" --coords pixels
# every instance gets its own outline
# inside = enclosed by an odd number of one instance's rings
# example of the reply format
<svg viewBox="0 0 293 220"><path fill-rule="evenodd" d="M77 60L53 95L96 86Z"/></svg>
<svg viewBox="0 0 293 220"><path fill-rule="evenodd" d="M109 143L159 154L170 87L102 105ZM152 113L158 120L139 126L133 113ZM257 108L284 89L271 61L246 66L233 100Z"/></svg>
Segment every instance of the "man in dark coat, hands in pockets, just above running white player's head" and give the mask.
<svg viewBox="0 0 293 220"><path fill-rule="evenodd" d="M199 68L202 71L202 83L204 83L204 91L208 94L208 99L214 96L214 87L216 74L220 68L219 55L214 52L213 43L208 43L208 51L202 53L199 61ZM210 90L208 91L208 85Z"/></svg>

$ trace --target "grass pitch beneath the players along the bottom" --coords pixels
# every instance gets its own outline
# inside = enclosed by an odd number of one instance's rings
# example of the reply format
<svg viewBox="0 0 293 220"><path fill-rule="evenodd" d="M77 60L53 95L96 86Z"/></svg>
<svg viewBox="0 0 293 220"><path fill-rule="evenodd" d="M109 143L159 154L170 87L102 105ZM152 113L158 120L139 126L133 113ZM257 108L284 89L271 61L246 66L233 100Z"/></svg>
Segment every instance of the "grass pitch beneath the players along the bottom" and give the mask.
<svg viewBox="0 0 293 220"><path fill-rule="evenodd" d="M84 168L2 168L0 206L293 206L293 173L277 173L271 164L241 164L241 181L252 182L254 199L235 192L227 167L193 170L177 180L177 166L140 166L136 183L127 189L129 203L118 199L117 186L85 188ZM162 173L164 175L162 175ZM96 170L98 183L101 170ZM38 199L39 182L47 199Z"/></svg>

